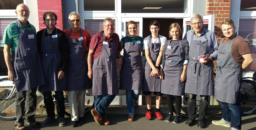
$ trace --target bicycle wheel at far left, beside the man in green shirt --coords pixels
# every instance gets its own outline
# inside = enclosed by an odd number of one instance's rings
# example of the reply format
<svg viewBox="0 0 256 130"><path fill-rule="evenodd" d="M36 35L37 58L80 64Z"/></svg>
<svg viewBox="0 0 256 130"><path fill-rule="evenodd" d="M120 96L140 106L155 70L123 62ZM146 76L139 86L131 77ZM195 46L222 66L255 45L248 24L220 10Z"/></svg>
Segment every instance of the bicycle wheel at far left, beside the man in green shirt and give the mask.
<svg viewBox="0 0 256 130"><path fill-rule="evenodd" d="M8 78L0 79L0 119L13 120L15 116L15 99L17 91L13 81Z"/></svg>

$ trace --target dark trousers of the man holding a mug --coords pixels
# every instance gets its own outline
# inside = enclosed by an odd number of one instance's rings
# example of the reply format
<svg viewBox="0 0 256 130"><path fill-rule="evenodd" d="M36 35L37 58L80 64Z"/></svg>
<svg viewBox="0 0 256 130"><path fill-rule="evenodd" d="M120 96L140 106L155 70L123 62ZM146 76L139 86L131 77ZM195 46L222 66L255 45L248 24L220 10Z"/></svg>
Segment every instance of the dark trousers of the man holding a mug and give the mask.
<svg viewBox="0 0 256 130"><path fill-rule="evenodd" d="M199 116L198 119L204 119L207 113L208 99L207 95L200 95ZM188 115L196 119L196 94L188 94Z"/></svg>

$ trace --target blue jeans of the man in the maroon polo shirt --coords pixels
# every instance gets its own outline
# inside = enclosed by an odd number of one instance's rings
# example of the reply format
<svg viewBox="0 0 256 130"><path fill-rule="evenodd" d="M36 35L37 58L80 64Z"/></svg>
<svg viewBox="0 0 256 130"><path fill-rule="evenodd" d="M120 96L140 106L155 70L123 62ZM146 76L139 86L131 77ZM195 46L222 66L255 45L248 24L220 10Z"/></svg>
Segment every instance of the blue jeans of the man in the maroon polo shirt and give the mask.
<svg viewBox="0 0 256 130"><path fill-rule="evenodd" d="M105 110L108 108L109 104L114 100L116 95L104 94L94 96L94 105L95 111L100 114L100 118L104 118L106 116Z"/></svg>

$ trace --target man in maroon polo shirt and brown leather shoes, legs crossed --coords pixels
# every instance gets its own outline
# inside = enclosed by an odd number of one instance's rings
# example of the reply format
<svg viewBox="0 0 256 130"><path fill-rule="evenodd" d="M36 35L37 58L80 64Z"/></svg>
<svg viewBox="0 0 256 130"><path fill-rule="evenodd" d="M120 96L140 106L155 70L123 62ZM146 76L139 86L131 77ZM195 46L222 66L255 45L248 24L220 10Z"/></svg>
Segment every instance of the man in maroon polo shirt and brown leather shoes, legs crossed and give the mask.
<svg viewBox="0 0 256 130"><path fill-rule="evenodd" d="M117 68L122 65L119 36L114 33L112 18L103 21L103 30L93 35L88 53L88 77L92 79L95 109L92 115L97 124L109 125L105 110L118 94ZM118 59L116 63L116 58Z"/></svg>

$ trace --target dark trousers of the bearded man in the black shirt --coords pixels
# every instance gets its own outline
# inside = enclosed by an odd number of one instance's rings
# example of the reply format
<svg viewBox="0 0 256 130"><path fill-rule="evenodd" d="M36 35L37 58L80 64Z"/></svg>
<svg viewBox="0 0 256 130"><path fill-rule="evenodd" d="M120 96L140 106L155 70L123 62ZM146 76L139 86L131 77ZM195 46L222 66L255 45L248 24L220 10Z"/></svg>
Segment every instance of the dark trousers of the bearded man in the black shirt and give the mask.
<svg viewBox="0 0 256 130"><path fill-rule="evenodd" d="M54 91L55 92L55 99L57 100L57 112L58 112L58 118L63 117L64 118L64 112L65 112L65 106L64 106L64 96L63 91ZM54 112L54 103L52 100L52 91L43 92L44 94L44 104L46 107L46 113L47 117L54 118L55 112Z"/></svg>

